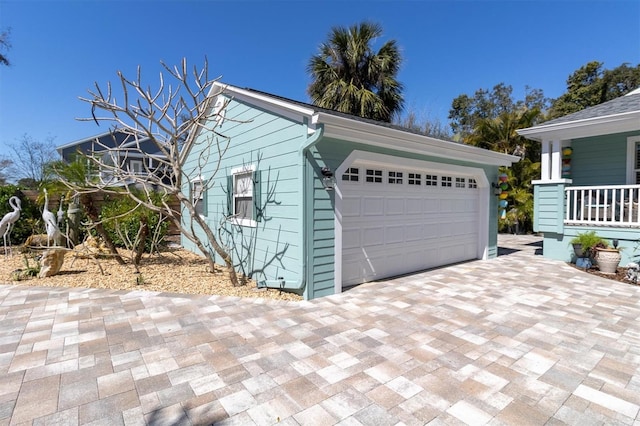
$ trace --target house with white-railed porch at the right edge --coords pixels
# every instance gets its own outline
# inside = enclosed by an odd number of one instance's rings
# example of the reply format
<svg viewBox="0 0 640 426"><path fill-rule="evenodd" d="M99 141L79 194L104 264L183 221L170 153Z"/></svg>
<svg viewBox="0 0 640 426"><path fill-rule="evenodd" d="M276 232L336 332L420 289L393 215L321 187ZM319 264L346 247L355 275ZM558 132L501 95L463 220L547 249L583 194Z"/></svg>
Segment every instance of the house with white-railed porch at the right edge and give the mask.
<svg viewBox="0 0 640 426"><path fill-rule="evenodd" d="M544 256L571 260L569 241L586 231L618 240L621 265L640 255L640 89L518 133L542 144L533 184Z"/></svg>

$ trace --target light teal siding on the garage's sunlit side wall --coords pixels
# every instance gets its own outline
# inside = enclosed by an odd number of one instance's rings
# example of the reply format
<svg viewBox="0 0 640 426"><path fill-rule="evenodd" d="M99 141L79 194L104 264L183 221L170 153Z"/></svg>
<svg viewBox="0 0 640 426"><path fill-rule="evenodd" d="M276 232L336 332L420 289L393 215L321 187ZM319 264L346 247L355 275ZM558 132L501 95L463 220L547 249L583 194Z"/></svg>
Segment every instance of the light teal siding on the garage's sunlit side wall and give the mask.
<svg viewBox="0 0 640 426"><path fill-rule="evenodd" d="M199 136L198 146L185 163L190 176L200 173L213 182L207 191L207 223L216 236L223 235L221 243L231 248L239 272L256 281L283 277L287 282L301 282L302 185L298 150L306 139L306 126L237 101L230 102L225 118L216 131L230 138L226 150L224 140L211 140L211 132L206 132ZM220 152L216 143L223 143L224 151L217 173ZM199 171L201 163L206 165ZM263 215L256 227L238 226L223 219L230 214L227 176L242 166L255 166L260 176L254 193L259 194ZM197 252L185 238L183 245ZM218 258L216 261L221 263Z"/></svg>

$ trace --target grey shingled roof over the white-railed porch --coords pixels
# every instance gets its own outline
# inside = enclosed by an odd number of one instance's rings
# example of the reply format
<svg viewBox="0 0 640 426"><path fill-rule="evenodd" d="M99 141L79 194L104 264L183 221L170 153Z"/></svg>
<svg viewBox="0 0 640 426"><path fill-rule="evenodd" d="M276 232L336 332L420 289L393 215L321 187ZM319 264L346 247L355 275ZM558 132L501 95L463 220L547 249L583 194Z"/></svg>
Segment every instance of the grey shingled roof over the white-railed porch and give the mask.
<svg viewBox="0 0 640 426"><path fill-rule="evenodd" d="M518 130L532 140L569 140L640 130L640 88L538 126Z"/></svg>

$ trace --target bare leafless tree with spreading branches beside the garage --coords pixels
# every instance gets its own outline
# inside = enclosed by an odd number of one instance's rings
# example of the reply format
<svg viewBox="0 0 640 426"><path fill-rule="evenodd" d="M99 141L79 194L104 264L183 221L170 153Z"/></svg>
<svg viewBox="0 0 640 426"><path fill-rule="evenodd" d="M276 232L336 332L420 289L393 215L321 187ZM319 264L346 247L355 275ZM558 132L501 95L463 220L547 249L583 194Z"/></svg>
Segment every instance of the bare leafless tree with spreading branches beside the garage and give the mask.
<svg viewBox="0 0 640 426"><path fill-rule="evenodd" d="M209 96L217 79L208 79L206 60L200 70L195 67L189 70L185 59L180 67L170 68L164 63L162 67L170 77L169 82L160 73L155 90L143 86L138 68L133 80L118 72L121 102L116 100L110 83L106 90L96 83L94 90L89 91L89 97L80 98L91 105L93 116L81 120L94 120L98 124L108 122L113 130L125 132L129 139L116 147L103 145L101 150L86 156L94 166L92 168L100 170L99 176L88 177L81 185L68 181L64 184L80 194L87 191L124 193L138 205L161 213L198 247L209 263L210 272L214 272L214 253L217 254L229 269L233 285L237 286L233 260L199 214L199 197L191 191L205 166L213 164L215 176L230 142L217 131L224 117L218 113L220 105L216 108L212 105L215 97ZM105 115L99 115L101 112ZM149 141L155 153L143 149L143 144ZM197 161L185 164L187 154L192 151L200 153ZM138 168L133 168L132 158L143 158L144 161ZM213 179L203 182L199 188L206 191L210 185L213 185ZM162 200L160 205L154 203L158 195ZM171 197L188 213L186 223L181 220L180 212L170 206Z"/></svg>

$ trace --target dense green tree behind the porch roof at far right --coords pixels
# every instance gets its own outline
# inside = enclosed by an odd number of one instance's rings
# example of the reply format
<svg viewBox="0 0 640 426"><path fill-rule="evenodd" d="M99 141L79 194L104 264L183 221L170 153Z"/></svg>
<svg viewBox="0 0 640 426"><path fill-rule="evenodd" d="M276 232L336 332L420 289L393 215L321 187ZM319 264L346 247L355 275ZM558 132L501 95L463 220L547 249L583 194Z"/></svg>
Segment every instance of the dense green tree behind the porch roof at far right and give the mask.
<svg viewBox="0 0 640 426"><path fill-rule="evenodd" d="M553 101L547 119L562 117L581 111L640 87L640 64L624 63L612 70L603 63L591 61L567 78L567 91Z"/></svg>

